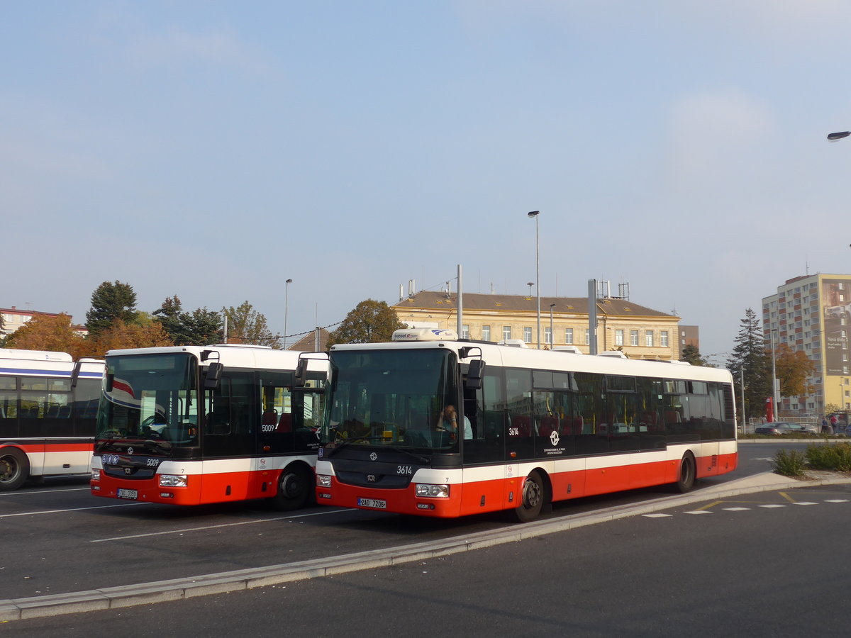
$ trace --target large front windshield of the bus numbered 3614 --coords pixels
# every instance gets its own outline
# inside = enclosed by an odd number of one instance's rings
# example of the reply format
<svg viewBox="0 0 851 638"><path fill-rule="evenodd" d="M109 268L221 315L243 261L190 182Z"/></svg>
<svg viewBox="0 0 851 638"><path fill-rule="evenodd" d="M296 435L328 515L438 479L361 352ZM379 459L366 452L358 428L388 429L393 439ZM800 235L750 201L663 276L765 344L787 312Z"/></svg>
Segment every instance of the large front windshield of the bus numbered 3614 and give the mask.
<svg viewBox="0 0 851 638"><path fill-rule="evenodd" d="M457 407L452 351L332 350L330 360L323 445L458 451L457 428L444 417Z"/></svg>

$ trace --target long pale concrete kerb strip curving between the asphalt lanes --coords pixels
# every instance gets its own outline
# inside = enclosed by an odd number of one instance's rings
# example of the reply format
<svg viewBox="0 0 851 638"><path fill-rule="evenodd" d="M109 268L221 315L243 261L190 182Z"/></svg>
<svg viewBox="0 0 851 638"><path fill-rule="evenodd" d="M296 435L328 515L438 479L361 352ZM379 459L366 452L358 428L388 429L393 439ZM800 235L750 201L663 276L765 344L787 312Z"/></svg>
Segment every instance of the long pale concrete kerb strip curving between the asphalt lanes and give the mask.
<svg viewBox="0 0 851 638"><path fill-rule="evenodd" d="M851 476L830 473L812 473L811 480L801 481L778 476L772 472L709 486L675 497L654 498L639 504L620 505L596 512L549 521L533 521L522 526L501 530L488 530L436 542L402 545L384 550L369 550L332 558L299 561L204 574L189 578L174 578L151 583L109 587L103 590L79 591L68 594L35 596L31 598L0 601L0 620L38 618L63 613L91 612L102 609L145 605L153 602L174 601L199 595L221 594L229 591L253 589L272 584L283 584L355 572L376 567L389 567L414 561L425 561L438 556L457 554L469 550L513 543L524 538L563 532L604 521L614 521L628 516L639 516L659 510L671 510L683 505L711 498L728 498L745 493L851 483Z"/></svg>

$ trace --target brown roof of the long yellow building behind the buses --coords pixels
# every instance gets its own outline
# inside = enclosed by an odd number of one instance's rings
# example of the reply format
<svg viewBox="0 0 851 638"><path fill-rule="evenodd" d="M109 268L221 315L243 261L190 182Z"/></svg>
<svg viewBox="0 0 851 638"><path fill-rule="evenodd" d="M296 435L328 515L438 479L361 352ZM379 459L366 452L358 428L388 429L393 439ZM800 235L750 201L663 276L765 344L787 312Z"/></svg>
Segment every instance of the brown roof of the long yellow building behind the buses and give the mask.
<svg viewBox="0 0 851 638"><path fill-rule="evenodd" d="M537 312L537 297L527 297L520 294L482 294L464 293L464 310L477 310L495 312ZM588 315L587 297L541 297L540 311L549 313L550 304L553 312L559 314ZM411 308L415 310L456 310L458 308L458 295L445 292L433 292L423 290L407 299L402 299L394 308ZM612 316L643 316L643 317L668 317L678 319L676 315L653 310L643 305L638 305L625 299L603 298L597 299L597 313Z"/></svg>

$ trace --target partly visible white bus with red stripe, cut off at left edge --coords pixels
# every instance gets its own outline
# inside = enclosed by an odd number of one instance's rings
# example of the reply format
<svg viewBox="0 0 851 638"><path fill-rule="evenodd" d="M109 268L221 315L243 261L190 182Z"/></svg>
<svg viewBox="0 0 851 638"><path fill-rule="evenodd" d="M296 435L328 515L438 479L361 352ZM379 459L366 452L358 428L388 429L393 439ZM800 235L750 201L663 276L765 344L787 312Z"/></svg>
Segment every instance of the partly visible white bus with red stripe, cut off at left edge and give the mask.
<svg viewBox="0 0 851 638"><path fill-rule="evenodd" d="M66 352L0 350L0 490L89 472L103 370Z"/></svg>

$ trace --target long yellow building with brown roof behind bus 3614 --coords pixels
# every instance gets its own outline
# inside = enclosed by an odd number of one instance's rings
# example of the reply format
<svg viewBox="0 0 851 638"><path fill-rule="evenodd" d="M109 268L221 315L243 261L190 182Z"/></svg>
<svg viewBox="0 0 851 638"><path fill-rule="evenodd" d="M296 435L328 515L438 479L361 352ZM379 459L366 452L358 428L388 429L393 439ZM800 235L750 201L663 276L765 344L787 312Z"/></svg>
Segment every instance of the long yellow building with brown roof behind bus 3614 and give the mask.
<svg viewBox="0 0 851 638"><path fill-rule="evenodd" d="M538 345L538 299L513 294L464 293L461 337ZM392 306L411 328L458 327L457 293L422 291ZM552 317L552 318L551 318ZM622 350L631 359L677 360L680 318L625 299L597 299L597 351ZM574 345L588 353L588 299L540 298L542 348ZM551 339L552 337L552 339Z"/></svg>

